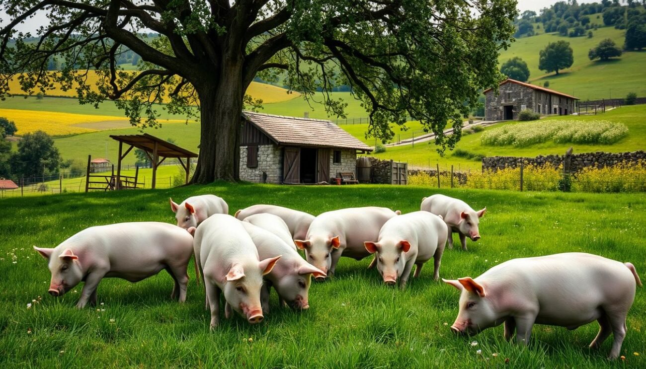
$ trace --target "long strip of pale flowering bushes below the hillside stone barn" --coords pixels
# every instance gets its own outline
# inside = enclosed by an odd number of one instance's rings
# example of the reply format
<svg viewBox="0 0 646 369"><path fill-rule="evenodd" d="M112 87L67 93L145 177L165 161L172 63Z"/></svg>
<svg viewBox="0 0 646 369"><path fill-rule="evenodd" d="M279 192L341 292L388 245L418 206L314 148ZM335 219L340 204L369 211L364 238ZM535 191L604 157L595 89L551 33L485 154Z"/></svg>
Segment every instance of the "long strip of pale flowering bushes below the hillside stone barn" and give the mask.
<svg viewBox="0 0 646 369"><path fill-rule="evenodd" d="M610 145L628 135L628 128L609 121L541 121L502 126L483 133L482 145L525 147L554 141Z"/></svg>

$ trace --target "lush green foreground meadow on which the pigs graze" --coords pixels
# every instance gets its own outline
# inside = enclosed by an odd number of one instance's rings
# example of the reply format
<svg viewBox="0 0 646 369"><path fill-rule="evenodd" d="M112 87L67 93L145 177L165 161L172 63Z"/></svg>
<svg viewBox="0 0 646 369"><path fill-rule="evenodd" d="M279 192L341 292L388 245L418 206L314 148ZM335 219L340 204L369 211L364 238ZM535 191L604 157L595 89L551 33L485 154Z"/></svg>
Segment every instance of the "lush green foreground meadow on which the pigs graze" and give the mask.
<svg viewBox="0 0 646 369"><path fill-rule="evenodd" d="M457 315L459 295L451 286L432 281L429 266L401 291L384 285L375 270L366 270L369 259L342 258L331 281L313 283L306 312L280 308L274 294L271 314L262 324L250 326L236 315L223 318L220 327L209 332L209 313L203 307L202 286L194 284L193 266L184 304L171 301L172 279L161 272L136 284L104 279L98 289L100 304L76 310L81 286L58 299L50 297L47 262L32 250L33 245L54 247L98 224L172 223L169 196L218 194L232 214L255 203L319 214L365 205L411 212L419 209L422 196L433 192L414 186L215 184L7 199L3 210L11 216L0 218L0 363L8 368L474 368L505 367L508 359L514 368L644 367L643 288L638 288L627 321L621 352L626 360L610 363L606 355L612 339L598 352L587 348L598 331L596 323L574 331L534 326L528 348L506 343L502 326L475 337L454 336L448 326ZM636 241L646 237L641 195L443 193L489 211L480 224L481 241L470 243L468 252L444 252L441 277L475 277L508 259L558 252L630 261L642 277L646 274L643 247Z"/></svg>

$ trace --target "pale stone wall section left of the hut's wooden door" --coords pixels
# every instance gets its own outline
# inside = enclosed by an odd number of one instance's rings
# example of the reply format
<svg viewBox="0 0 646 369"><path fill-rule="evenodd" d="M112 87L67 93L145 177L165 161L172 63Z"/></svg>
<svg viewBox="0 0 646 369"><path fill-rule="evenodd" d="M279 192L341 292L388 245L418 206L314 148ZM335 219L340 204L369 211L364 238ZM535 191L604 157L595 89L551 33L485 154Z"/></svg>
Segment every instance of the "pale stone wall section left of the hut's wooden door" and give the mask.
<svg viewBox="0 0 646 369"><path fill-rule="evenodd" d="M258 166L247 168L247 146L240 146L240 179L253 183L282 183L282 150L258 145Z"/></svg>

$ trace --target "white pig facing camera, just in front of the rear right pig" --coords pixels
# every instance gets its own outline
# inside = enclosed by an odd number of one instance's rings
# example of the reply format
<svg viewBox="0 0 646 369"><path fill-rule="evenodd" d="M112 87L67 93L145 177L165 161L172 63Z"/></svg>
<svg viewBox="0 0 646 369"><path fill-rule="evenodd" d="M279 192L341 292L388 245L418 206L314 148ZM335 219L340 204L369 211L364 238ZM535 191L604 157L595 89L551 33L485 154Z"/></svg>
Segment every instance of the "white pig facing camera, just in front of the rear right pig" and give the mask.
<svg viewBox="0 0 646 369"><path fill-rule="evenodd" d="M447 237L446 224L439 215L412 212L390 218L379 232L377 242L366 241L370 254L377 256L377 270L384 283L406 287L408 276L415 264L419 277L424 263L433 258L433 279L439 279L440 261Z"/></svg>

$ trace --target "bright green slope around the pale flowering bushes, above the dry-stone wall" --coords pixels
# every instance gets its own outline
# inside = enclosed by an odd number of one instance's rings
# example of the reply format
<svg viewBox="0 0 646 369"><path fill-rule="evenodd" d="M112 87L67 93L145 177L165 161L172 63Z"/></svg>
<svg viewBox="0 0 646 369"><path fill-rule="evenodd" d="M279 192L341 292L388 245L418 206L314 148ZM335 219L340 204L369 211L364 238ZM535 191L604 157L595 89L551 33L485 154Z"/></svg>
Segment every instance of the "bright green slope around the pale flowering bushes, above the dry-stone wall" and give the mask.
<svg viewBox="0 0 646 369"><path fill-rule="evenodd" d="M548 154L561 154L571 147L574 147L574 153L581 152L628 152L636 150L644 150L643 138L646 137L646 125L644 125L644 116L646 115L646 105L636 106L622 106L615 110L609 110L605 114L598 115L570 115L567 117L547 117L541 119L546 123L554 119L568 119L577 121L591 121L596 119L604 119L607 121L618 122L625 124L629 133L628 136L613 145L583 145L583 144L557 144L552 141L541 143L538 145L531 145L524 148L517 148L514 146L484 146L480 143L480 136L482 132L465 135L456 149L467 150L474 154L483 154L486 156L525 156L534 157L537 155ZM522 124L516 121L499 123L485 129L492 129L502 125ZM437 164L441 169L450 169L453 165L455 170L479 170L481 168L481 161L469 160L463 157L457 157L452 152L447 152L444 157L441 157L435 151L433 141L412 145L397 146L386 148L386 152L382 154L375 154L374 156L381 159L393 159L395 161L407 161L410 165L435 168Z"/></svg>

